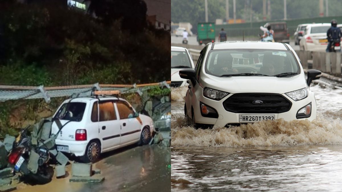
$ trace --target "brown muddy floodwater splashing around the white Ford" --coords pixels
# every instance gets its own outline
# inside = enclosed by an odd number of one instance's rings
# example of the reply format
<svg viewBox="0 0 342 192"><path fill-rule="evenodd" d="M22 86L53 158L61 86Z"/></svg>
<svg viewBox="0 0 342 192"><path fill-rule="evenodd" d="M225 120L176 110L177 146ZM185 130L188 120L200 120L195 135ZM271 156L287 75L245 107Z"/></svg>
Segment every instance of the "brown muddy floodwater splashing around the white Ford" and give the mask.
<svg viewBox="0 0 342 192"><path fill-rule="evenodd" d="M171 92L171 191L341 191L342 90L311 86L317 119L186 126L187 87Z"/></svg>

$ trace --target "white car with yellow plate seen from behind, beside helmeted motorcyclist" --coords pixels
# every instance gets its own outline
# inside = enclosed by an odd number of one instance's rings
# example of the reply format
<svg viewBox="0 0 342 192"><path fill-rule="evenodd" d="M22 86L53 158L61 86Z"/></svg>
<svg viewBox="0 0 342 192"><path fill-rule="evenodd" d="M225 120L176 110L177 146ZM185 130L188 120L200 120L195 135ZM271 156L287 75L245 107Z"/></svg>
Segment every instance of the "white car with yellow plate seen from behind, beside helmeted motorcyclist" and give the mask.
<svg viewBox="0 0 342 192"><path fill-rule="evenodd" d="M327 31L330 23L316 23L306 26L302 40L299 42L301 50L325 52L328 46Z"/></svg>

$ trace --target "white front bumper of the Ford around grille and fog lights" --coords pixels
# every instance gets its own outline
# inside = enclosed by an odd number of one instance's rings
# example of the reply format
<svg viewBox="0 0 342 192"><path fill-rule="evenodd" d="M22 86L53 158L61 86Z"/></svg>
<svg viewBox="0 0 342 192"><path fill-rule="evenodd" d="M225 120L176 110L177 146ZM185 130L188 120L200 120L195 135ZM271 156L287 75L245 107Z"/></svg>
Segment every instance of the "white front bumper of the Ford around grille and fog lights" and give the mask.
<svg viewBox="0 0 342 192"><path fill-rule="evenodd" d="M197 103L196 102L193 103L196 123L214 125L214 127L223 127L227 124L236 124L236 123L239 124L240 123L239 114L258 114L258 115L274 114L275 119L282 118L285 121L297 120L296 114L298 110L300 110L301 108L303 108L310 102L312 103L311 116L309 118L303 118L299 120L308 119L312 121L316 119L316 101L314 98L314 94L310 91L309 91L308 97L299 101L294 101L287 95L281 94L292 103L290 110L287 112L283 112L283 113L233 113L233 112L226 111L223 107L223 102L232 95L233 94L229 94L226 97L222 98L221 100L215 101L215 100L204 97L203 94L200 94L200 96L197 97L198 98L198 100L196 101ZM200 112L200 102L214 108L218 112L219 117L218 118L203 117Z"/></svg>

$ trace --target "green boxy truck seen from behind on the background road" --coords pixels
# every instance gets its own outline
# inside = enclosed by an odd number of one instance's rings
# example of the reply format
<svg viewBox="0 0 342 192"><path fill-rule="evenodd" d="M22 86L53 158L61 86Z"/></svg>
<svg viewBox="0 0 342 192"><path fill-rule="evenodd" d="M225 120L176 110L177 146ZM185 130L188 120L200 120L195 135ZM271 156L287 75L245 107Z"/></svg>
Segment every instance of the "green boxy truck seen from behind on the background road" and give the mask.
<svg viewBox="0 0 342 192"><path fill-rule="evenodd" d="M197 41L200 45L215 42L215 23L198 23Z"/></svg>

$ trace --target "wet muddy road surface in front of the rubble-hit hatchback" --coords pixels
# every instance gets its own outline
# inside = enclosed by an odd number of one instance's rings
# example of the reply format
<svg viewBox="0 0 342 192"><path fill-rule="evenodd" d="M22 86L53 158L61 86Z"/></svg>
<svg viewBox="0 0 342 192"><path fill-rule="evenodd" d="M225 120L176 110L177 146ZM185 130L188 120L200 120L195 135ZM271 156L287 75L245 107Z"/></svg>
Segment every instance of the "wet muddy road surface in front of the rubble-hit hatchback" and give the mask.
<svg viewBox="0 0 342 192"><path fill-rule="evenodd" d="M104 153L103 159L93 167L101 169L105 177L102 183L75 183L66 178L56 179L42 186L27 186L20 183L20 192L94 192L94 191L169 191L170 190L170 149L153 146L129 146ZM71 166L68 165L67 172Z"/></svg>

